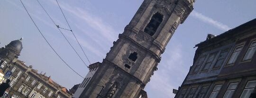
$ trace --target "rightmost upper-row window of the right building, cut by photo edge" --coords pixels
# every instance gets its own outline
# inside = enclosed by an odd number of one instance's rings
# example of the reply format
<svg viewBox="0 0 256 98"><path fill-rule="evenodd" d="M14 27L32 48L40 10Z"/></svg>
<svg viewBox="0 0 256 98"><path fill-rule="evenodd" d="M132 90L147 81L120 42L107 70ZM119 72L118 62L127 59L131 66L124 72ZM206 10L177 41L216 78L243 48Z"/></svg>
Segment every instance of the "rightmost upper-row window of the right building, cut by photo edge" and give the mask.
<svg viewBox="0 0 256 98"><path fill-rule="evenodd" d="M246 53L243 61L251 59L253 57L255 51L256 51L256 41L253 41L251 43L250 47L248 48L247 53Z"/></svg>

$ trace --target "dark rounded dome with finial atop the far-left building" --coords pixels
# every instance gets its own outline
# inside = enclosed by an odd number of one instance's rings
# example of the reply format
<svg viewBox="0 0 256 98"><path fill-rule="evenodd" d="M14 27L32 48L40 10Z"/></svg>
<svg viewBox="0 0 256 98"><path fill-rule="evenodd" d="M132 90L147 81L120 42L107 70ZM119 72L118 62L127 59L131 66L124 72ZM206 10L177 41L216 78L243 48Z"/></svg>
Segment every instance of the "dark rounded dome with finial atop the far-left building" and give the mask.
<svg viewBox="0 0 256 98"><path fill-rule="evenodd" d="M11 41L7 46L19 54L22 50L21 40L22 38L20 38L19 40Z"/></svg>

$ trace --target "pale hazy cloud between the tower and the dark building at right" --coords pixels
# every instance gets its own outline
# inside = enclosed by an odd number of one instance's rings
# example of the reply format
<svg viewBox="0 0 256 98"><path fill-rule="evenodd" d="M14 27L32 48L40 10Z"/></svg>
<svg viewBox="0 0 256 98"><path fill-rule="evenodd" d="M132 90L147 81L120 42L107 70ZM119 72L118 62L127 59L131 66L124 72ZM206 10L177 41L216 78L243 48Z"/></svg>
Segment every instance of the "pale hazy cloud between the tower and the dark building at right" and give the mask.
<svg viewBox="0 0 256 98"><path fill-rule="evenodd" d="M178 86L183 80L183 75L187 74L185 65L182 62L182 45L176 45L174 49L166 51L164 62L159 64L159 70L155 71L155 75L152 76L151 81L148 84L148 88L155 89L157 93L162 95L159 98L174 98L173 89L178 89ZM177 69L179 69L177 71ZM179 74L174 74L179 73Z"/></svg>

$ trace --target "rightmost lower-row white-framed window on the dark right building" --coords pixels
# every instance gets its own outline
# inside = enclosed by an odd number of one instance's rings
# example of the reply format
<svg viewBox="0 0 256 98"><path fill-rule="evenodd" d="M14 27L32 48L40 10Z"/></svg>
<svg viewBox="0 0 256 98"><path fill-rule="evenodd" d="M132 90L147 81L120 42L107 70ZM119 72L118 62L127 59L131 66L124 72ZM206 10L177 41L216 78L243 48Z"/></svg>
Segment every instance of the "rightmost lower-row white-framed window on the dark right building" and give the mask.
<svg viewBox="0 0 256 98"><path fill-rule="evenodd" d="M248 81L240 98L249 98L256 86L256 80Z"/></svg>

